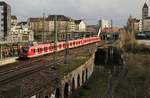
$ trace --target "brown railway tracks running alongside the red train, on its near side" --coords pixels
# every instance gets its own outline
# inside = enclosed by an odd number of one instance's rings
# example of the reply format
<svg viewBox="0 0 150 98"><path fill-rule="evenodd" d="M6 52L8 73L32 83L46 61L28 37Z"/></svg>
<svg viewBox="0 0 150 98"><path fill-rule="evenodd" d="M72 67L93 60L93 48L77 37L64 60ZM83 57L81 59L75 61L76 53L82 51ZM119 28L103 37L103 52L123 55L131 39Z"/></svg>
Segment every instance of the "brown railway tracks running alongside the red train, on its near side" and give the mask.
<svg viewBox="0 0 150 98"><path fill-rule="evenodd" d="M93 47L92 44L86 45L84 47L70 49L69 52L72 57L76 57L80 53L84 52L85 49L91 47ZM29 59L25 62L20 61L17 62L16 65L12 64L12 66L6 65L5 67L0 67L0 85L9 83L13 80L49 68L50 66L54 65L54 63L60 63L64 60L64 53L65 51L56 53L56 58L57 58L56 62L53 61L54 60L53 54L50 54L39 58Z"/></svg>

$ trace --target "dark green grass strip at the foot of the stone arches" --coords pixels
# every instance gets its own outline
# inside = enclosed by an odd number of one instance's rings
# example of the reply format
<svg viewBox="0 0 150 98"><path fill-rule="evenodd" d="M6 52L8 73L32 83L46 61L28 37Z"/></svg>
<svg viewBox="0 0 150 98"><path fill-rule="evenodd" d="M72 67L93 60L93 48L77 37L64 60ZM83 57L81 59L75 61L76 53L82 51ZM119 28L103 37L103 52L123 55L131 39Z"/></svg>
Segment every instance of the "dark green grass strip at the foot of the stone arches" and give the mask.
<svg viewBox="0 0 150 98"><path fill-rule="evenodd" d="M101 73L96 69L88 83L73 98L100 98L107 90L108 79L108 73Z"/></svg>

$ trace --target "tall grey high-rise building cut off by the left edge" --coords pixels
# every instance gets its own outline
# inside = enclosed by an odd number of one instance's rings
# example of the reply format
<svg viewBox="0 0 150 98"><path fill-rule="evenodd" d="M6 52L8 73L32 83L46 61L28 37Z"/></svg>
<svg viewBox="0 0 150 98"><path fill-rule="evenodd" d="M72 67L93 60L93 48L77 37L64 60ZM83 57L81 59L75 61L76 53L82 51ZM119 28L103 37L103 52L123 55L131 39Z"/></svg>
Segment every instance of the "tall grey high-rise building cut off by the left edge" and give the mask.
<svg viewBox="0 0 150 98"><path fill-rule="evenodd" d="M11 29L11 7L7 3L0 2L0 40L6 40Z"/></svg>

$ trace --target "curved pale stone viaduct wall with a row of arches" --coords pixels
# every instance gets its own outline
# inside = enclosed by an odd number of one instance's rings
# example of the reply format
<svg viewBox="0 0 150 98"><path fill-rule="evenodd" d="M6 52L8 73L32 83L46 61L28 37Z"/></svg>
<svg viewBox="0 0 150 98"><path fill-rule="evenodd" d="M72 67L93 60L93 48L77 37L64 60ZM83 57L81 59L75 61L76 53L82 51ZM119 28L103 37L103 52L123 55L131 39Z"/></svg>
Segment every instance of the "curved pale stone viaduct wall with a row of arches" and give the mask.
<svg viewBox="0 0 150 98"><path fill-rule="evenodd" d="M94 57L95 53L83 65L65 75L57 87L50 87L42 94L36 92L35 95L26 98L68 98L72 96L92 75Z"/></svg>

